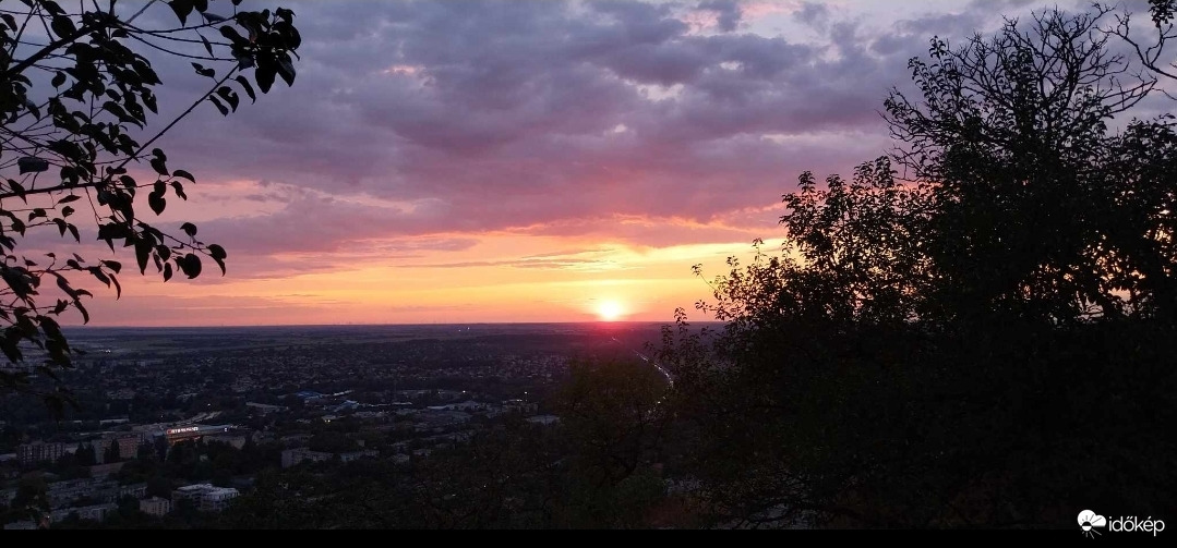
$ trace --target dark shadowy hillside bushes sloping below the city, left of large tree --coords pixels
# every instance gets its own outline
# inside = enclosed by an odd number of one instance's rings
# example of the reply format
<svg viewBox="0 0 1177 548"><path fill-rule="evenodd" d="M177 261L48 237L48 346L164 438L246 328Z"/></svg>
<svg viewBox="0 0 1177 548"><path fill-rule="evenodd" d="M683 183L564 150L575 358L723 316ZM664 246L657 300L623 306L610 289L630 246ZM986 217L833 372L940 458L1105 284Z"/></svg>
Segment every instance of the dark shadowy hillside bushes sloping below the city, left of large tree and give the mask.
<svg viewBox="0 0 1177 548"><path fill-rule="evenodd" d="M506 415L463 428L407 461L384 453L258 476L220 516L227 528L647 527L666 497L657 466L666 380L640 362L573 366L560 420Z"/></svg>

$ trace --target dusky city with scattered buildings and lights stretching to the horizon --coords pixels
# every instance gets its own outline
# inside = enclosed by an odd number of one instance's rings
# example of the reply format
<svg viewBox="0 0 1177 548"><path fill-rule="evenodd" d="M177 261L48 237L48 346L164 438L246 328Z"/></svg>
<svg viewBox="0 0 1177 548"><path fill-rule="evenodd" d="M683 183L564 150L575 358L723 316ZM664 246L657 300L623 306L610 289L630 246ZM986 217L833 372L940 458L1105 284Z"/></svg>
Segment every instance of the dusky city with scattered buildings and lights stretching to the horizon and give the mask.
<svg viewBox="0 0 1177 548"><path fill-rule="evenodd" d="M412 467L506 423L552 428L560 419L551 394L570 360L644 367L634 348L658 333L658 325L78 330L85 354L68 376L77 409L55 420L27 399L2 400L4 527L95 527L112 516L191 527L253 492L259 474L360 459ZM46 512L29 516L39 503Z"/></svg>

